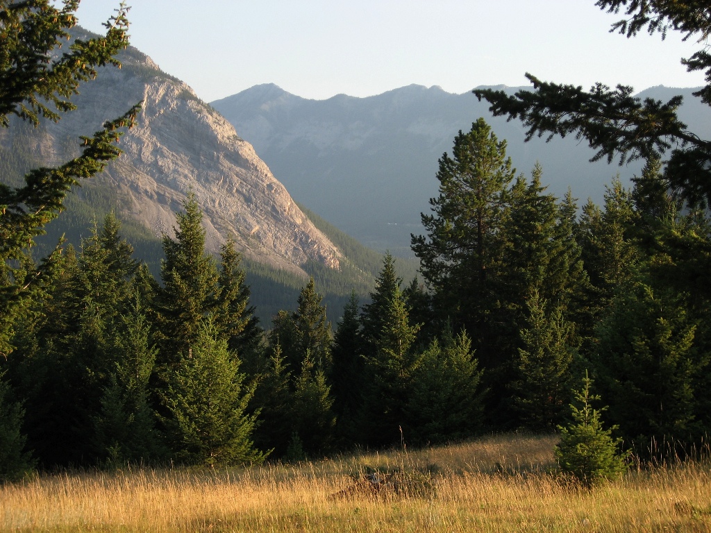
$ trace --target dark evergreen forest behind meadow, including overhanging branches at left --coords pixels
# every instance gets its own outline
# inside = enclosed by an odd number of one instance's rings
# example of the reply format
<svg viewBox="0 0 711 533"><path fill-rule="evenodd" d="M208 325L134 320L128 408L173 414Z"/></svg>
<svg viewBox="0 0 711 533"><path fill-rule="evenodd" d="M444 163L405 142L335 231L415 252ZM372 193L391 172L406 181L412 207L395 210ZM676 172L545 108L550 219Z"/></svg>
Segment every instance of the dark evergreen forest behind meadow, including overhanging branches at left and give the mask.
<svg viewBox="0 0 711 533"><path fill-rule="evenodd" d="M71 2L46 4L55 16L45 25L12 7L6 32L15 24L60 37L71 25ZM73 84L125 45L124 16L102 45L77 41L54 85L0 95L0 122L70 111ZM10 51L31 63L21 49L30 45L14 41ZM71 185L119 156L114 141L137 112L85 138L82 156L64 166L0 185L0 479L550 433L583 380L586 402L607 406L599 416L615 442L640 458L685 456L707 438L707 190L685 186L658 151L640 152L646 165L631 188L614 180L603 205L579 203L574 191L546 192L545 168L516 171L506 141L478 119L439 159L426 235L412 236L418 277L402 279L385 254L374 289L364 296L354 284L330 317L312 277L293 310L267 322L250 303L234 242L206 254L193 197L162 239L157 274L111 212L78 247L33 259L28 243Z"/></svg>

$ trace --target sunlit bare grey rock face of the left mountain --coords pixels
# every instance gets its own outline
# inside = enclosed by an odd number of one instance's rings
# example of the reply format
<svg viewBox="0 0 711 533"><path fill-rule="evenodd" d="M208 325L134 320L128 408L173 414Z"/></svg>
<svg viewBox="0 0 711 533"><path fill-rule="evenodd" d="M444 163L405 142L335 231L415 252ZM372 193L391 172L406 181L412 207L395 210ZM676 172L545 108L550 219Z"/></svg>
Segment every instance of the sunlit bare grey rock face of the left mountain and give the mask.
<svg viewBox="0 0 711 533"><path fill-rule="evenodd" d="M120 60L122 69L102 68L73 99L78 109L48 127L38 149L50 163L75 155L78 135L91 134L142 101L136 125L120 141L124 154L94 178L117 190L119 211L161 235L175 225L173 212L192 192L203 210L210 252L232 235L240 251L259 262L291 271L308 261L338 268L336 246L232 124L146 55L129 49Z"/></svg>

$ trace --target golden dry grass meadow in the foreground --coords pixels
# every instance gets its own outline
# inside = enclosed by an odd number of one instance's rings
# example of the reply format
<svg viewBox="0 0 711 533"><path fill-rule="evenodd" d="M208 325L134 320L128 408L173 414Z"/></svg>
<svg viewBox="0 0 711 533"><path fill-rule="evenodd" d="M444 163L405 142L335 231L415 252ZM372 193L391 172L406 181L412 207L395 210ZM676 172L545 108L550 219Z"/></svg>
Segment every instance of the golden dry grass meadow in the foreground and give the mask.
<svg viewBox="0 0 711 533"><path fill-rule="evenodd" d="M710 532L711 463L631 470L593 490L555 473L555 436L214 472L119 470L0 488L3 532ZM366 467L407 493L358 493Z"/></svg>

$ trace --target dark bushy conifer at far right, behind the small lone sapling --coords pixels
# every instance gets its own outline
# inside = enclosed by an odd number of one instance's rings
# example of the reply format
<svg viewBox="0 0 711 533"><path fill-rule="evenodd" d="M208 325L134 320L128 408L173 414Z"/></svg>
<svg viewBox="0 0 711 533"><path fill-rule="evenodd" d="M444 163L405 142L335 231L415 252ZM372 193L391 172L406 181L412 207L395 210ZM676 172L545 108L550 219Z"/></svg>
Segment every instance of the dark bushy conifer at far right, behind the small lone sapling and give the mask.
<svg viewBox="0 0 711 533"><path fill-rule="evenodd" d="M609 419L641 456L668 453L663 443L688 444L704 431L695 424L702 393L695 385L709 355L698 350L697 323L684 303L682 295L636 282L599 325L595 363Z"/></svg>

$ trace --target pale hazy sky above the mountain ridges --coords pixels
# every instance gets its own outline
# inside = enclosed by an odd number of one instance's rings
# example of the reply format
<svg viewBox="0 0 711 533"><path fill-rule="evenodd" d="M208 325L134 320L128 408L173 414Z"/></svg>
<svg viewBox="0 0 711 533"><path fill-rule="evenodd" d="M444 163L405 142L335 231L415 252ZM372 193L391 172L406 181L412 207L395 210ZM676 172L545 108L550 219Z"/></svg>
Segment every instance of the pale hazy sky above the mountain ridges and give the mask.
<svg viewBox="0 0 711 533"><path fill-rule="evenodd" d="M324 99L417 83L466 92L543 80L695 87L678 34L609 33L594 0L130 0L131 41L210 102L260 83ZM82 0L102 31L119 0Z"/></svg>

